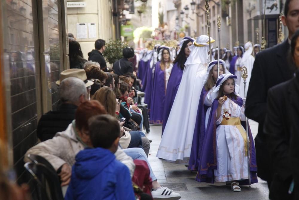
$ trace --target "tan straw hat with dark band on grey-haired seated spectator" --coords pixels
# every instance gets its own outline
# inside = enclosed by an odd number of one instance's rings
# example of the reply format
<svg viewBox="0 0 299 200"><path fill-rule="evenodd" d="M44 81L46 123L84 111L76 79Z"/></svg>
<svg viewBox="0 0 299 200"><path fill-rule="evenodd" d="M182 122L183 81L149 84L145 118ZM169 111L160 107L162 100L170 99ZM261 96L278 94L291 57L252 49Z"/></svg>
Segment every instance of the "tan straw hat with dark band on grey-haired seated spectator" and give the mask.
<svg viewBox="0 0 299 200"><path fill-rule="evenodd" d="M68 69L68 70L64 70L60 73L60 79L59 81L56 81L57 85L60 85L60 82L68 77L76 77L78 79L83 80L83 82L85 83L85 86L91 86L92 84L94 84L94 82L87 80L87 76L85 73L85 70L83 69Z"/></svg>

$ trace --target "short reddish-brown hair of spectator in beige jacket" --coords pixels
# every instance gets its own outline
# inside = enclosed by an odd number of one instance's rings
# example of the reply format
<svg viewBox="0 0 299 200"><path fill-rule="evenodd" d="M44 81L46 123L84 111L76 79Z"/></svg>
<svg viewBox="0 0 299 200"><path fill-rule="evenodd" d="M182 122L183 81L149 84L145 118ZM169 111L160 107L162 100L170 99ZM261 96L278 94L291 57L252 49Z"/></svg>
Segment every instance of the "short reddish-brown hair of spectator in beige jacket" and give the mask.
<svg viewBox="0 0 299 200"><path fill-rule="evenodd" d="M90 100L85 101L78 106L77 111L75 113L76 127L81 130L89 130L88 129L88 120L94 115L102 115L107 114L104 106L96 101Z"/></svg>

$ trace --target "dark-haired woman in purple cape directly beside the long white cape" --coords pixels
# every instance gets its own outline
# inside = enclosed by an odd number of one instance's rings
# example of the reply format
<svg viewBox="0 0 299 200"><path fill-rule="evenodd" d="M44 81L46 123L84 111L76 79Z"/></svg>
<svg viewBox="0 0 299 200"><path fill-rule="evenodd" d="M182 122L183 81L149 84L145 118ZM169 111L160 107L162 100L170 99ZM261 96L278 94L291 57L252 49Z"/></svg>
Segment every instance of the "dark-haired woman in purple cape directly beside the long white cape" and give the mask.
<svg viewBox="0 0 299 200"><path fill-rule="evenodd" d="M179 46L180 49L178 50L178 55L176 59L173 61L173 67L170 73L170 77L167 84L166 89L166 97L165 97L165 104L164 104L164 112L163 112L163 126L162 126L162 134L173 104L173 101L176 97L176 93L179 89L179 85L181 83L181 79L183 76L183 71L185 67L185 62L190 55L191 50L189 46L193 44L194 39L191 37L184 37L181 40Z"/></svg>

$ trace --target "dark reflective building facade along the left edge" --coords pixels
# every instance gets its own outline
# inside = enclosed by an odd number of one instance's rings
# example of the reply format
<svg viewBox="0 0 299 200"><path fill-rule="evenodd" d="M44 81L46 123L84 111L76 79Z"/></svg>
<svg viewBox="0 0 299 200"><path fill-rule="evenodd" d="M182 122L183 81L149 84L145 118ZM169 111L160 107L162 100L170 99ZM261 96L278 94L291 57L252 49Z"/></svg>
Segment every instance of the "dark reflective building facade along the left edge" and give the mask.
<svg viewBox="0 0 299 200"><path fill-rule="evenodd" d="M57 106L55 82L69 65L66 1L5 0L0 14L0 139L22 183L24 154L38 142L38 119Z"/></svg>

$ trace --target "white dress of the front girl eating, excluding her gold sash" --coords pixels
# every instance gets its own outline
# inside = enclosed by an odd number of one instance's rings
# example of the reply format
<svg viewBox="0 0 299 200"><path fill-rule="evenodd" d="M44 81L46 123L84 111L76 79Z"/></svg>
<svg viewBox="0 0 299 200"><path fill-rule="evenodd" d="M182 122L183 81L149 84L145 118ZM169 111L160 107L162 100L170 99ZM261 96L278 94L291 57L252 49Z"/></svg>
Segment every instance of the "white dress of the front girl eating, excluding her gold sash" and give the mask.
<svg viewBox="0 0 299 200"><path fill-rule="evenodd" d="M222 118L223 109L228 107L231 117L239 117L241 121L245 121L244 106L240 107L228 98L222 106L221 116L217 120L217 124L225 120ZM248 161L247 156L245 156L244 139L235 125L219 125L217 127L216 154L215 182L248 179Z"/></svg>

